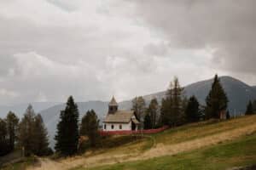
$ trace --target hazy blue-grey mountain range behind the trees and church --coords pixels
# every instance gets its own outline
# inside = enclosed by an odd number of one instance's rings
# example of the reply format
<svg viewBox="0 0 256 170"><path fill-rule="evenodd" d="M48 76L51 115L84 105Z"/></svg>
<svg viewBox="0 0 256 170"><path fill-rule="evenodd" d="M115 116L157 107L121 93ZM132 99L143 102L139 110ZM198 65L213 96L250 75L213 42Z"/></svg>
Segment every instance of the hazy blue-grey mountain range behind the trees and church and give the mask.
<svg viewBox="0 0 256 170"><path fill-rule="evenodd" d="M213 79L195 82L184 87L184 95L187 97L195 95L201 105L205 105L205 99L212 86ZM230 100L229 111L232 116L239 116L246 110L247 103L250 99L256 99L256 86L249 86L240 80L233 77L220 77L226 94ZM144 95L143 98L148 104L151 99L158 99L159 103L162 98L165 97L166 91L159 93ZM28 104L12 105L12 106L0 106L0 117L6 116L8 111L15 111L18 116L26 111ZM60 111L65 108L65 104L61 102L44 102L44 103L32 103L36 112L39 112L44 119L44 123L48 128L50 145L54 145L55 127L59 120ZM78 102L80 117L84 116L85 112L93 109L96 111L100 120L106 115L108 111L108 102L106 101L87 101ZM121 110L131 109L131 100L119 102L119 108Z"/></svg>

